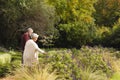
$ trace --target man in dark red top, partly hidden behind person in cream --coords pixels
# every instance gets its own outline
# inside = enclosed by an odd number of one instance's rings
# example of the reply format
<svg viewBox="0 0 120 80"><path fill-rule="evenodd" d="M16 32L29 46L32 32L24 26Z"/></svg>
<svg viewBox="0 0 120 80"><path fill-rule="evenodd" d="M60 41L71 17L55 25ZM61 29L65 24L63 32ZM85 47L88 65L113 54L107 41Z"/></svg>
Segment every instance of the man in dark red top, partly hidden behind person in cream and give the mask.
<svg viewBox="0 0 120 80"><path fill-rule="evenodd" d="M32 29L32 28L28 28L28 29L27 29L27 32L25 32L25 33L22 35L22 38L21 38L22 64L23 64L23 51L24 51L24 47L25 47L26 42L31 38L31 34L32 34L32 33L33 33L33 29Z"/></svg>

